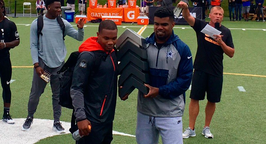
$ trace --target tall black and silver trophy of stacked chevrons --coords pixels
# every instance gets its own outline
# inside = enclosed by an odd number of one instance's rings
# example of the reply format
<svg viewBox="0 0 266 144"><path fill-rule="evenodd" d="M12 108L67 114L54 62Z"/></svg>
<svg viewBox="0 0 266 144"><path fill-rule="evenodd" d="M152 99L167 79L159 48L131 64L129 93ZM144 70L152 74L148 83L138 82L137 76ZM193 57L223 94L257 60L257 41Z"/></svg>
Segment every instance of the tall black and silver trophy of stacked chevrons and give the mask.
<svg viewBox="0 0 266 144"><path fill-rule="evenodd" d="M149 89L144 83L149 83L149 64L147 62L146 40L135 31L126 29L117 39L117 59L119 80L118 86L121 98L130 94L135 88L144 94Z"/></svg>

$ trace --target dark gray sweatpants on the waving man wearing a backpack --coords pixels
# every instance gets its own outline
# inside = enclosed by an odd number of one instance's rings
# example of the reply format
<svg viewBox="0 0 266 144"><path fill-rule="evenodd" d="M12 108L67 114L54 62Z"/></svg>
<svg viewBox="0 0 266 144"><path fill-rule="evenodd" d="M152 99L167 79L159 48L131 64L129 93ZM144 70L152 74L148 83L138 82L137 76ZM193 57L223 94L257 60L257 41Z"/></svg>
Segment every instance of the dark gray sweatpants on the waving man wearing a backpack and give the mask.
<svg viewBox="0 0 266 144"><path fill-rule="evenodd" d="M64 65L64 62L61 64L61 66L57 68L49 68L44 64L41 58L39 58L39 66L43 69L46 69L49 71L49 73L52 74L50 84L52 89L52 104L53 104L53 110L54 110L54 120L60 120L61 116L61 106L58 104L59 102L59 77L61 77L61 74L57 74L56 72L61 69L61 67ZM46 82L42 80L36 73L35 68L33 68L33 79L32 79L32 85L31 85L31 93L29 95L29 103L28 103L28 115L30 117L33 117L33 114L36 112L37 106L39 104L40 96L42 93L44 93L44 89L46 87Z"/></svg>

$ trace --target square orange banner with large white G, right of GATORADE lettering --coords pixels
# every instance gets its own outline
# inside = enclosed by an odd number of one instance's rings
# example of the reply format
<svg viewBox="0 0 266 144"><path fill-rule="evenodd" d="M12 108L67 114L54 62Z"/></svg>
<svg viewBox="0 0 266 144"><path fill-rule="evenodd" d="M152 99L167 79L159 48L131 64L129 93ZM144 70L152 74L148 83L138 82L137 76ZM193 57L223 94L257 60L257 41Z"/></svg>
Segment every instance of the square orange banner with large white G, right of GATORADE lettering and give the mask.
<svg viewBox="0 0 266 144"><path fill-rule="evenodd" d="M138 16L139 8L124 8L124 22L137 22Z"/></svg>

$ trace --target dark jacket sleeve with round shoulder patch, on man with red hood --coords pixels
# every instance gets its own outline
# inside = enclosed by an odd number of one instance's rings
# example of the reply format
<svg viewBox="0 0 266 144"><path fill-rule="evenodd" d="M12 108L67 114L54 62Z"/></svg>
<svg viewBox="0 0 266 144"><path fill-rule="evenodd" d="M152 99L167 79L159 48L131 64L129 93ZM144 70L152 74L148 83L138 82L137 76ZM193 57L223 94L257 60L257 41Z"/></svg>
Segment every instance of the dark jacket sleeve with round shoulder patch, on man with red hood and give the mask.
<svg viewBox="0 0 266 144"><path fill-rule="evenodd" d="M74 69L70 95L75 109L74 115L77 121L87 118L84 108L84 92L88 87L90 67L92 67L94 61L93 57L94 56L88 52L82 52L78 57Z"/></svg>

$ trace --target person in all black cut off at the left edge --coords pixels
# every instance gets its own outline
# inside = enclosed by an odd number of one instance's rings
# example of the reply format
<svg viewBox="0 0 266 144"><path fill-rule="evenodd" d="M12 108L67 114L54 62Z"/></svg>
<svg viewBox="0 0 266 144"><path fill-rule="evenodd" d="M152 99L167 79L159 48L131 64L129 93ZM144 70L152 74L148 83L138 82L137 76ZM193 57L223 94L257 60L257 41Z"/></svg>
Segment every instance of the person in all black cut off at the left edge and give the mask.
<svg viewBox="0 0 266 144"><path fill-rule="evenodd" d="M4 114L3 121L9 124L14 124L9 114L10 103L11 103L11 61L9 50L19 45L19 33L16 28L16 24L13 21L5 18L5 3L0 0L0 79L3 88L3 100L4 100Z"/></svg>

